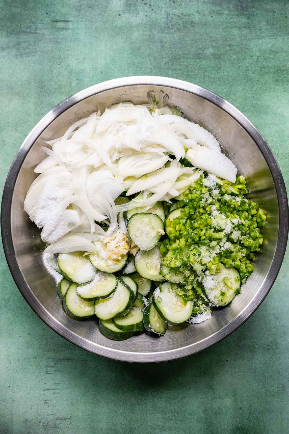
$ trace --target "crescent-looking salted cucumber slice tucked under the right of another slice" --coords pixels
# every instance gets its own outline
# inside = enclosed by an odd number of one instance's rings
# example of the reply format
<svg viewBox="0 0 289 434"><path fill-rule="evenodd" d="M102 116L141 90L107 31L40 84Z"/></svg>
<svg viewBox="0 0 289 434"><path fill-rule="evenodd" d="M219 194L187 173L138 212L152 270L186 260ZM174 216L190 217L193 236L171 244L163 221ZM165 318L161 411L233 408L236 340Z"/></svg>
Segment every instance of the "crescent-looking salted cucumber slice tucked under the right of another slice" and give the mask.
<svg viewBox="0 0 289 434"><path fill-rule="evenodd" d="M117 289L111 297L94 302L95 315L100 319L111 319L114 316L127 314L133 306L133 291L119 279Z"/></svg>

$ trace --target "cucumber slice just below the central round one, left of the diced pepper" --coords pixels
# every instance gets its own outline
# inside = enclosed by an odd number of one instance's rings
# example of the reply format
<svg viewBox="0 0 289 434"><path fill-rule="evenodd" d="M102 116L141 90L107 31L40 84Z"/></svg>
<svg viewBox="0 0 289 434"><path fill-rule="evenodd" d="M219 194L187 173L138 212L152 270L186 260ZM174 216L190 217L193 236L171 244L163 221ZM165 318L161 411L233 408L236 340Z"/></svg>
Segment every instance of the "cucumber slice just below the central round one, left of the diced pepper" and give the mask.
<svg viewBox="0 0 289 434"><path fill-rule="evenodd" d="M134 257L134 265L136 266L136 271L145 279L156 280L158 282L163 280L163 276L159 274L161 266L159 246L154 247L148 252L139 250Z"/></svg>

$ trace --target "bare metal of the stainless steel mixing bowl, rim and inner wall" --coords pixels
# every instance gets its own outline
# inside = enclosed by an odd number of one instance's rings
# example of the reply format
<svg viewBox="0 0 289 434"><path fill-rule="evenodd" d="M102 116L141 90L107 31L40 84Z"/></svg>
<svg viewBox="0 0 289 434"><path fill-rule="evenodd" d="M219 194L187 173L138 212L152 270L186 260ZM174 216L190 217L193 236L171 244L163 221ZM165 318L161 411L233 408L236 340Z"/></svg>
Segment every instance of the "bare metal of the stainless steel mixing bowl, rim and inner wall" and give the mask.
<svg viewBox="0 0 289 434"><path fill-rule="evenodd" d="M96 322L78 322L61 308L55 283L42 263L39 229L23 210L26 192L36 177L33 168L44 157L45 140L61 136L73 122L121 102L142 104L146 93L162 89L169 103L188 119L207 128L223 145L250 185L250 198L266 209L268 224L255 270L229 306L212 318L154 339L148 334L114 342L98 331ZM36 125L19 149L7 176L1 210L6 259L23 297L59 335L98 355L129 362L160 362L199 352L234 332L257 309L279 272L288 235L288 203L279 166L264 138L249 120L224 99L201 87L165 77L138 76L110 80L84 89L58 104ZM177 327L176 327L177 329Z"/></svg>

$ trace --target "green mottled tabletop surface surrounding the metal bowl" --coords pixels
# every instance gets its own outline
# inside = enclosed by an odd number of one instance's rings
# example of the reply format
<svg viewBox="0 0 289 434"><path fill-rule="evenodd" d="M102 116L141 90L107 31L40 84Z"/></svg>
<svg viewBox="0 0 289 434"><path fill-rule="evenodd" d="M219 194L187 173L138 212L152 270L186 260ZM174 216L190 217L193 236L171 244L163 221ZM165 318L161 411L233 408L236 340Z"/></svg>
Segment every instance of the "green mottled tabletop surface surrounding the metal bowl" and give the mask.
<svg viewBox="0 0 289 434"><path fill-rule="evenodd" d="M0 2L1 3L1 2ZM161 75L236 105L288 184L288 1L12 1L0 8L1 172L58 102L94 83ZM97 357L30 309L0 253L0 433L289 433L288 255L260 308L188 358Z"/></svg>

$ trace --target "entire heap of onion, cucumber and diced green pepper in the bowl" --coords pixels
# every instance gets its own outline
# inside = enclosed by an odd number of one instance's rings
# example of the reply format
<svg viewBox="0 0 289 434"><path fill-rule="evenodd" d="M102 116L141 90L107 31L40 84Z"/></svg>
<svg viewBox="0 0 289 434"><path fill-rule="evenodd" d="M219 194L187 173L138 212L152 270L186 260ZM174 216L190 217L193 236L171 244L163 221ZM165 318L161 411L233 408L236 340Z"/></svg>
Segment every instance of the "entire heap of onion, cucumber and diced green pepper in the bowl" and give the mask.
<svg viewBox="0 0 289 434"><path fill-rule="evenodd" d="M128 339L202 322L240 293L266 216L214 136L166 105L120 103L47 141L24 209L74 319Z"/></svg>

